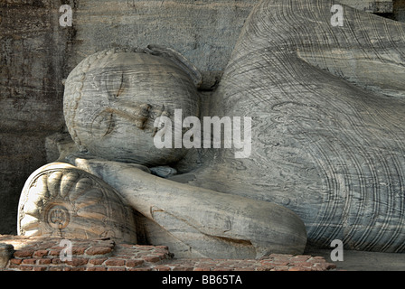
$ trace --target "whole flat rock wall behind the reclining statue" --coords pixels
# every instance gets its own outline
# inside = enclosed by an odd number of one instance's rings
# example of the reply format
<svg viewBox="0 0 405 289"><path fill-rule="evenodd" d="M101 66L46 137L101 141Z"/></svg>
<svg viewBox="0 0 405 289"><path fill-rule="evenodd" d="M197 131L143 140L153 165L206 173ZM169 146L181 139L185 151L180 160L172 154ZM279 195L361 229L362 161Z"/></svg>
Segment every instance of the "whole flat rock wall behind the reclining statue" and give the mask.
<svg viewBox="0 0 405 289"><path fill-rule="evenodd" d="M259 0L0 0L0 234L16 233L20 193L50 160L46 137L66 131L61 80L89 54L115 46L160 44L221 79L240 29ZM345 0L365 5L372 1ZM61 27L61 5L73 25ZM405 21L405 1L375 11Z"/></svg>

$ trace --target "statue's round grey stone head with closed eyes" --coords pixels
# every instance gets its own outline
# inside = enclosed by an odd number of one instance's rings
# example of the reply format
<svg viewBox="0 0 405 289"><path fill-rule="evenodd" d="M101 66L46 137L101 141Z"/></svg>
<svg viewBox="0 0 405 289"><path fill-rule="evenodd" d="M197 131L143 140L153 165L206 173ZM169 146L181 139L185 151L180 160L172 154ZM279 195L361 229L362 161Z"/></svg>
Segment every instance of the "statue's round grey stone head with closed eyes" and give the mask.
<svg viewBox="0 0 405 289"><path fill-rule="evenodd" d="M81 147L106 159L149 166L174 163L184 156L182 148L161 149L154 144L157 117L173 120L174 109L182 109L183 117L198 117L193 81L172 61L119 52L94 61L79 74L81 78L75 77L72 70L66 81L64 113ZM73 87L79 91L74 93Z"/></svg>

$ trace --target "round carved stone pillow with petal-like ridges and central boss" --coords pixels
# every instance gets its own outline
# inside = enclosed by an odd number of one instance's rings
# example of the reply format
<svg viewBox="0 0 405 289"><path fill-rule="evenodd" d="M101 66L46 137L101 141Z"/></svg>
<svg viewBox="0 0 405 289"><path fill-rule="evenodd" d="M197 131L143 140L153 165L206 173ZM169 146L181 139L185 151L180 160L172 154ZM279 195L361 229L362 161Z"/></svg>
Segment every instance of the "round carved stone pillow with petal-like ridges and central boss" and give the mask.
<svg viewBox="0 0 405 289"><path fill-rule="evenodd" d="M137 242L132 210L118 194L67 163L50 163L33 172L20 197L17 225L24 236Z"/></svg>

